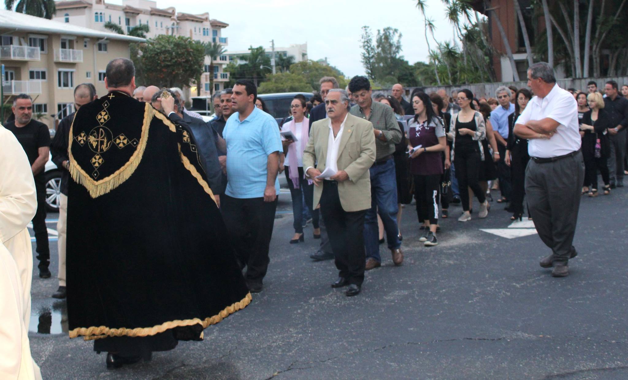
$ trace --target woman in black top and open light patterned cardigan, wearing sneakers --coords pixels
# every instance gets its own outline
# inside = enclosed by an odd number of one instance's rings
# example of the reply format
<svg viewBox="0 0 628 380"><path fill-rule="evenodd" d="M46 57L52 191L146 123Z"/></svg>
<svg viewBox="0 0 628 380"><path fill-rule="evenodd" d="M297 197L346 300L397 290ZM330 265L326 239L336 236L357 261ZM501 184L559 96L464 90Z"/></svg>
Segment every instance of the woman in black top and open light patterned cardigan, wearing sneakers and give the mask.
<svg viewBox="0 0 628 380"><path fill-rule="evenodd" d="M452 116L449 136L453 140L452 161L456 166L456 178L464 212L459 222L471 220L469 195L463 189L470 187L480 202L480 218L489 214L486 195L479 184L479 168L484 161L482 139L486 137L484 116L475 110L473 93L468 89L458 92L460 112Z"/></svg>

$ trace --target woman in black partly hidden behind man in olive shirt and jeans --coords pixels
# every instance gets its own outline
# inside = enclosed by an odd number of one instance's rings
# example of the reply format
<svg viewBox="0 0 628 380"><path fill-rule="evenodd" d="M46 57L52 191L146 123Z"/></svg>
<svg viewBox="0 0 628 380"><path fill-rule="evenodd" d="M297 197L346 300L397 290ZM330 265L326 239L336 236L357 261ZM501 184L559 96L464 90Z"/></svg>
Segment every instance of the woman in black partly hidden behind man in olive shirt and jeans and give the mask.
<svg viewBox="0 0 628 380"><path fill-rule="evenodd" d="M403 128L403 116L405 111L401 104L397 99L394 99L392 96L385 96L379 100L380 103L386 104L393 109L394 116L397 118L397 124L399 125L399 129L401 129L401 141L399 144L395 144L395 151L393 153L394 159L394 171L397 181L397 207L399 211L397 212L397 225L399 228L399 241L403 240L403 235L401 235L401 214L403 212L403 207L401 205L409 205L412 202L412 178L410 175L410 161L408 158L408 153L406 153L406 147L408 146L408 136ZM384 234L384 226L382 225L382 237Z"/></svg>

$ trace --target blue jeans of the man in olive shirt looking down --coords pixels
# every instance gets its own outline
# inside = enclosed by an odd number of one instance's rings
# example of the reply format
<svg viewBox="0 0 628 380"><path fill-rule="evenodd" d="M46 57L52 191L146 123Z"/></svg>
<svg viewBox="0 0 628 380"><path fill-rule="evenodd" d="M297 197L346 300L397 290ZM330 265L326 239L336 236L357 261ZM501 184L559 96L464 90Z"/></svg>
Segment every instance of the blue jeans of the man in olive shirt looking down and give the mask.
<svg viewBox="0 0 628 380"><path fill-rule="evenodd" d="M379 227L377 214L384 224L386 241L389 249L401 247L399 227L397 225L397 180L394 160L381 165L371 166L371 209L367 210L364 220L364 246L366 258L374 258L381 263L379 256Z"/></svg>

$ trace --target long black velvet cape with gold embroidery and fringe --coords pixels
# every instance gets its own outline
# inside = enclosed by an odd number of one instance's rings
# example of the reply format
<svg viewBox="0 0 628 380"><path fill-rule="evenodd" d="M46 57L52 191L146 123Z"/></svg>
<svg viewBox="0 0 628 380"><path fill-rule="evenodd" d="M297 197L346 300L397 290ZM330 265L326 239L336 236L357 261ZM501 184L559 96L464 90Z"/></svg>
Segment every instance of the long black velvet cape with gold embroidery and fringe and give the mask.
<svg viewBox="0 0 628 380"><path fill-rule="evenodd" d="M249 304L190 131L111 92L77 111L69 154L70 338L199 339Z"/></svg>

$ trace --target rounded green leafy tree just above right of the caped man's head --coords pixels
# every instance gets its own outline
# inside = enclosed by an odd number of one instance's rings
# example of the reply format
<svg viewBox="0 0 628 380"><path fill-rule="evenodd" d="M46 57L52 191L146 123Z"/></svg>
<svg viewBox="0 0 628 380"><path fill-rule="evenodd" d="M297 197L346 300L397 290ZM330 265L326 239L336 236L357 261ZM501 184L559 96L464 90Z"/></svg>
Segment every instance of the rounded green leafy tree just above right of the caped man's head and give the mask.
<svg viewBox="0 0 628 380"><path fill-rule="evenodd" d="M160 87L183 87L203 73L205 48L188 37L160 35L141 48L144 80Z"/></svg>

